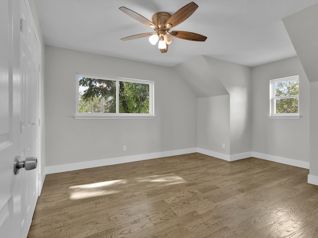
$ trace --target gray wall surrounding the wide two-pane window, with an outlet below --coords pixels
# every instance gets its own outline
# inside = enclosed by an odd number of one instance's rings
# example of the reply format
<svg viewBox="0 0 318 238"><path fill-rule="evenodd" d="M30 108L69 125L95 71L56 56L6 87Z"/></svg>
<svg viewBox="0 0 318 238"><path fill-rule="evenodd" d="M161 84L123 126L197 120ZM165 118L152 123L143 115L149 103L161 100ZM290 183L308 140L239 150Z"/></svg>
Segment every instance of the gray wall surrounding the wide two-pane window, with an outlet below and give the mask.
<svg viewBox="0 0 318 238"><path fill-rule="evenodd" d="M52 46L45 56L47 166L196 147L197 98L172 68ZM154 81L156 119L74 119L76 73Z"/></svg>

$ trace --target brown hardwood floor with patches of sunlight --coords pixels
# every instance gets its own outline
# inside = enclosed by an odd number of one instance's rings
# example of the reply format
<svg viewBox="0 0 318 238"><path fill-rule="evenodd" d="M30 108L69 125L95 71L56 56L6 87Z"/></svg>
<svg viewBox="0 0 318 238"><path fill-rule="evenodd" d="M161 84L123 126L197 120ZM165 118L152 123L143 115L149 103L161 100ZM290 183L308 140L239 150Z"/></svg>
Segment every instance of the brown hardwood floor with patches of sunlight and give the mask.
<svg viewBox="0 0 318 238"><path fill-rule="evenodd" d="M47 175L28 238L318 238L308 174L194 153Z"/></svg>

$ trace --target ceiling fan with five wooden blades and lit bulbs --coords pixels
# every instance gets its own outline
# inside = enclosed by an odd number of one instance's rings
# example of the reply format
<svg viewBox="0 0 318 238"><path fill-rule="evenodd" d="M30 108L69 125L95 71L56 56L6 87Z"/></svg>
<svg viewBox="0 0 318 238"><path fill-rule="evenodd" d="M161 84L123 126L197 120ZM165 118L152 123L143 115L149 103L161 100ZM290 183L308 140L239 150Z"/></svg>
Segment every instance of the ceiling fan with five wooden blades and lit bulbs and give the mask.
<svg viewBox="0 0 318 238"><path fill-rule="evenodd" d="M169 14L167 12L157 12L153 15L152 21L148 20L146 17L134 12L124 6L119 7L127 15L131 16L135 20L150 26L154 29L155 32L142 33L137 35L128 36L122 38L122 41L134 40L143 37L149 37L149 41L151 44L156 45L158 40L158 48L161 53L166 53L168 51L168 45L170 45L173 41L173 37L177 37L180 39L188 40L188 41L205 41L207 39L206 36L192 33L188 31L171 31L172 27L179 25L181 22L186 20L199 6L195 4L193 1L186 4L177 10L174 14Z"/></svg>

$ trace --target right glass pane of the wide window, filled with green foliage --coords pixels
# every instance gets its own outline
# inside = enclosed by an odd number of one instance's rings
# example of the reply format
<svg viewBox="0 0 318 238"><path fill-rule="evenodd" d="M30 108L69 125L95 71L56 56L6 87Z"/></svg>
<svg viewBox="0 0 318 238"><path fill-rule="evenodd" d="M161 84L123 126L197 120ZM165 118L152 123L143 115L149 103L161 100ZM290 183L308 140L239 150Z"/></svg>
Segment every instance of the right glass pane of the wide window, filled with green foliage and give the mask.
<svg viewBox="0 0 318 238"><path fill-rule="evenodd" d="M149 84L119 81L119 113L149 114Z"/></svg>

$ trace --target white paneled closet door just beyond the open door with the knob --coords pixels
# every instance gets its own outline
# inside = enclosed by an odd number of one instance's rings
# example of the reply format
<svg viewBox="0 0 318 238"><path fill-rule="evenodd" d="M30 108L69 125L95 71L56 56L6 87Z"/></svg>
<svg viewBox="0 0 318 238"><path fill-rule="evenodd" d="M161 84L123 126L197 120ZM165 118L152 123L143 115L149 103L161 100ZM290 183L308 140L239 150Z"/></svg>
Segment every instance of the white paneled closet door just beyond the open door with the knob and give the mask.
<svg viewBox="0 0 318 238"><path fill-rule="evenodd" d="M20 158L39 155L39 44L26 2L20 8ZM31 226L38 197L38 168L20 170L21 180L21 237L26 237Z"/></svg>

